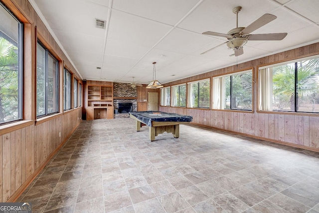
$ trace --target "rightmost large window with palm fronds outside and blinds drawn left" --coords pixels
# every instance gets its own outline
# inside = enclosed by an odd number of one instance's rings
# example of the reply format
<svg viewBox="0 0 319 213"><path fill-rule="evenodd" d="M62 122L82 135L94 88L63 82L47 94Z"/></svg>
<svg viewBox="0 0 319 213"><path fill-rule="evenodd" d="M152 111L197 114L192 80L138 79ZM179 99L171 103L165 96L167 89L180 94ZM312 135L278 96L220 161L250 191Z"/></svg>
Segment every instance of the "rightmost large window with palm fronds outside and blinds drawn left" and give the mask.
<svg viewBox="0 0 319 213"><path fill-rule="evenodd" d="M259 110L319 112L319 58L261 67Z"/></svg>

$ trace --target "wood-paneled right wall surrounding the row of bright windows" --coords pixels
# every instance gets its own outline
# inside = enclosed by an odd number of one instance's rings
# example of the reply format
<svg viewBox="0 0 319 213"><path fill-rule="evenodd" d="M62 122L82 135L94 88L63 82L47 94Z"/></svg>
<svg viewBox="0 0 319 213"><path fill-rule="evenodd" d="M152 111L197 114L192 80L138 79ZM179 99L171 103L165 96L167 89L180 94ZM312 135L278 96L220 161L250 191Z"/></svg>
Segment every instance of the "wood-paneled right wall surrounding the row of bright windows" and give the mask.
<svg viewBox="0 0 319 213"><path fill-rule="evenodd" d="M255 79L259 66L319 54L319 43L288 50L252 61L213 70L204 74L166 83L180 83L210 78L236 70L254 68ZM192 115L193 123L248 135L272 142L319 151L319 115L306 113L257 112L257 84L254 85L254 112L207 110L160 106L160 111Z"/></svg>

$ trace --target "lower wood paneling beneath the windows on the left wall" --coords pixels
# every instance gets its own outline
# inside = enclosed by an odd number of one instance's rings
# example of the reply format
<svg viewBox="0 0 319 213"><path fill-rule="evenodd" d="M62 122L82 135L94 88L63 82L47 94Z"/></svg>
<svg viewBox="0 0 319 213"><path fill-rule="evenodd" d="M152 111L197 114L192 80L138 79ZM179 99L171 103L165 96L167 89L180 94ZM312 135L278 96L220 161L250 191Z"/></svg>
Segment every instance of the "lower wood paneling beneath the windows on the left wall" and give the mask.
<svg viewBox="0 0 319 213"><path fill-rule="evenodd" d="M80 124L78 118L81 108L0 135L0 202L17 198Z"/></svg>

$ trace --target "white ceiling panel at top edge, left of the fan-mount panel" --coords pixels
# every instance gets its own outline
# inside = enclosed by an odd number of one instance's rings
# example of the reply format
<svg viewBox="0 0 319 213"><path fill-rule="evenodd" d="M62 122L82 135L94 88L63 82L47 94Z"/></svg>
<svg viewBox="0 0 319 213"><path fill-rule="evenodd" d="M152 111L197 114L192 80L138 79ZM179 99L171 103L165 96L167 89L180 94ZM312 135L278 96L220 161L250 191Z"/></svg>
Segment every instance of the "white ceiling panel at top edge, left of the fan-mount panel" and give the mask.
<svg viewBox="0 0 319 213"><path fill-rule="evenodd" d="M199 0L115 0L113 1L113 7L162 23L175 25L198 2Z"/></svg>

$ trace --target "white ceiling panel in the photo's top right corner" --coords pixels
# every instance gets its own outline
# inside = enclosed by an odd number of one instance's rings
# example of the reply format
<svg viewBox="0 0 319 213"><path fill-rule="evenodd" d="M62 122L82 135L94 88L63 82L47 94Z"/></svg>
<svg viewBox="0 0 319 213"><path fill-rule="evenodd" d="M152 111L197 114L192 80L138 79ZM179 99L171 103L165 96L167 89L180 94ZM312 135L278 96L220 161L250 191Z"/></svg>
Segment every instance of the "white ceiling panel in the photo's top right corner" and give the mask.
<svg viewBox="0 0 319 213"><path fill-rule="evenodd" d="M319 22L319 0L294 0L286 6L316 23Z"/></svg>

